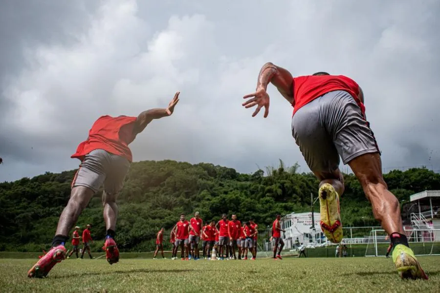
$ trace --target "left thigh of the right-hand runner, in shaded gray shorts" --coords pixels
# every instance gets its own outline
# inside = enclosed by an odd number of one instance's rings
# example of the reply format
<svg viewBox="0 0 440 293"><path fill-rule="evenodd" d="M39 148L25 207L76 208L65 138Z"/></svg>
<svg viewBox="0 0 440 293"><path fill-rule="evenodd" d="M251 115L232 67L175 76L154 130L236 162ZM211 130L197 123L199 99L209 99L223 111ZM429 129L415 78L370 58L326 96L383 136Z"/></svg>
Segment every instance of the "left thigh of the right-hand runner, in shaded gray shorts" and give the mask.
<svg viewBox="0 0 440 293"><path fill-rule="evenodd" d="M302 106L292 117L292 135L310 168L317 173L331 173L339 166L339 155L322 122L321 99Z"/></svg>

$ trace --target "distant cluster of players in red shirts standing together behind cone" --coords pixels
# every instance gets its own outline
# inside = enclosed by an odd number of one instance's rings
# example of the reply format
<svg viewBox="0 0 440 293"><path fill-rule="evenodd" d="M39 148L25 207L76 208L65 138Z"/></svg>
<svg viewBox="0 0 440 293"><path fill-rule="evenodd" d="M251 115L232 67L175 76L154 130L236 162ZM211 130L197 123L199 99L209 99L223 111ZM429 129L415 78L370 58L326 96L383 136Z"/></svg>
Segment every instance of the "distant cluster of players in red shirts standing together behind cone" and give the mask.
<svg viewBox="0 0 440 293"><path fill-rule="evenodd" d="M156 258L159 250L164 258L163 233L163 228L157 232L154 258ZM236 214L231 215L231 220L228 220L226 214L222 214L220 221L217 223L210 220L203 225L203 220L200 218L198 211L190 221L185 219L185 214L181 214L179 221L170 233L170 242L173 247L172 259L177 259L179 248L181 260L200 259L199 244L201 240L202 257L204 259L210 260L214 249L219 260L237 258L247 260L249 252L251 253L251 260L255 260L257 256L257 238L258 225L253 219L242 223L237 219ZM238 252L238 255L236 252Z"/></svg>

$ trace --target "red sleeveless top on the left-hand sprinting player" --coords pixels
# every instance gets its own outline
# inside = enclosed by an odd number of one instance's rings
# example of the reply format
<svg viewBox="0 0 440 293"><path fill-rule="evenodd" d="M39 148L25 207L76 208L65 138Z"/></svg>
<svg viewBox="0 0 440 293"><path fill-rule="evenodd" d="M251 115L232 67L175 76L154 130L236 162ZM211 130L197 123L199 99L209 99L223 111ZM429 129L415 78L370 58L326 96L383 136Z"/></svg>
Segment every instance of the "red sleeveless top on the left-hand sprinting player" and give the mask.
<svg viewBox="0 0 440 293"><path fill-rule="evenodd" d="M135 121L136 117L129 116L99 117L88 132L87 140L78 145L76 153L70 158L83 161L89 152L99 148L132 162L132 151L128 145L136 138L133 133Z"/></svg>

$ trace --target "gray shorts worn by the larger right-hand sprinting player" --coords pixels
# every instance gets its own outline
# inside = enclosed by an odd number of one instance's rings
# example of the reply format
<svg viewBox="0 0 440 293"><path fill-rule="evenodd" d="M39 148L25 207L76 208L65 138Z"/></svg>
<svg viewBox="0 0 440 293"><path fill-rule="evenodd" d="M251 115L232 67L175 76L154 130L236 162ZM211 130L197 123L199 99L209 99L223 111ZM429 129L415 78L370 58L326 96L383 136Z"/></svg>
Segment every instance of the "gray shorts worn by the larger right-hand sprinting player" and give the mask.
<svg viewBox="0 0 440 293"><path fill-rule="evenodd" d="M292 135L313 172L332 172L366 154L380 154L373 131L346 91L329 92L292 117Z"/></svg>

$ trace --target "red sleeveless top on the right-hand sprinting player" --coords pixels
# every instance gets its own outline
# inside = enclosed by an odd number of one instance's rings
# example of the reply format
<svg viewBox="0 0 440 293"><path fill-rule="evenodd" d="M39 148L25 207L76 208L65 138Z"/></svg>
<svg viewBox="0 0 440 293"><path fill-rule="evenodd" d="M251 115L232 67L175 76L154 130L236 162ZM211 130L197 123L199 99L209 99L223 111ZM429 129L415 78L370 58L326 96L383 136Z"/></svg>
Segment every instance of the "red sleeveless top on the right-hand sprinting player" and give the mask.
<svg viewBox="0 0 440 293"><path fill-rule="evenodd" d="M293 115L302 106L334 90L344 90L351 94L361 108L362 114L365 114L365 106L357 97L359 85L351 78L343 75L306 75L293 78L293 97L295 99Z"/></svg>

